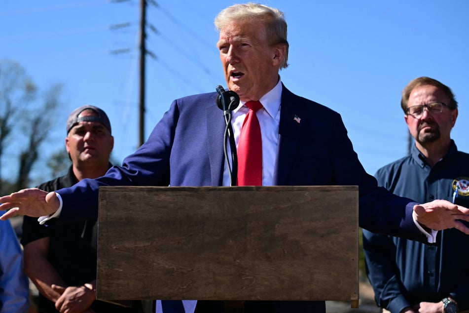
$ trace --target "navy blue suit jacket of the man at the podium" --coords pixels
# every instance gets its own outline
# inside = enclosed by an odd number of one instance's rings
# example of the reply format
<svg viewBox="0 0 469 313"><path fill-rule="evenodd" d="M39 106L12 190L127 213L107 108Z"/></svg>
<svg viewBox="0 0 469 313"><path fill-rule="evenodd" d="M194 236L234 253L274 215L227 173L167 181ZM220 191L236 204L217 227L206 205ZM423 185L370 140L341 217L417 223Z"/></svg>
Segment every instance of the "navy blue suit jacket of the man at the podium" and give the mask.
<svg viewBox="0 0 469 313"><path fill-rule="evenodd" d="M221 186L225 122L215 99L216 92L175 100L144 145L122 166L59 190L64 210L58 222L96 218L99 186ZM340 115L285 86L274 185L358 185L361 227L426 240L412 220L415 203L378 187L364 171Z"/></svg>

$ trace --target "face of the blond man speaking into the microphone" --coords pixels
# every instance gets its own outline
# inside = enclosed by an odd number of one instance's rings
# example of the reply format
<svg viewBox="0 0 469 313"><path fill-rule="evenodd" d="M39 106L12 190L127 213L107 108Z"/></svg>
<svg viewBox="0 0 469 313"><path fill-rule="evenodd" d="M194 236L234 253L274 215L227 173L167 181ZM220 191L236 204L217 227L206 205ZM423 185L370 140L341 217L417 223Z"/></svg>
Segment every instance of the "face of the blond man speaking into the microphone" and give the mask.
<svg viewBox="0 0 469 313"><path fill-rule="evenodd" d="M278 82L284 46L271 46L261 22L231 22L217 43L228 89L243 101L257 101Z"/></svg>

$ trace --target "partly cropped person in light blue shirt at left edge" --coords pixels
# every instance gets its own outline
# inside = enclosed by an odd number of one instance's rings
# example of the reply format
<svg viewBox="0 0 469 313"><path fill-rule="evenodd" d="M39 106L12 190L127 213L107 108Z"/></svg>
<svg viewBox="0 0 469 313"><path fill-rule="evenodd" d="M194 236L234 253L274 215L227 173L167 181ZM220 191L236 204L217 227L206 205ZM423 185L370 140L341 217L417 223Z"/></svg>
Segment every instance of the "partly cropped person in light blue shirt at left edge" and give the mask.
<svg viewBox="0 0 469 313"><path fill-rule="evenodd" d="M0 313L28 310L29 280L23 272L23 251L10 221L0 221Z"/></svg>

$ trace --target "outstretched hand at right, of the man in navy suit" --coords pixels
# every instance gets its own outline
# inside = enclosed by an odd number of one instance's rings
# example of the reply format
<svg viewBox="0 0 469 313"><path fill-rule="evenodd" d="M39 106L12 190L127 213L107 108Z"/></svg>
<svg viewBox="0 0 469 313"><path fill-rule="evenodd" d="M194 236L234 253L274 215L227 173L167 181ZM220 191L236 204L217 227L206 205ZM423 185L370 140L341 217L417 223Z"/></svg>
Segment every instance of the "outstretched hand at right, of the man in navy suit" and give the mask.
<svg viewBox="0 0 469 313"><path fill-rule="evenodd" d="M1 200L1 199L0 199ZM469 209L446 200L414 205L414 217L420 224L435 231L456 228L469 235L469 228L461 221L469 222Z"/></svg>

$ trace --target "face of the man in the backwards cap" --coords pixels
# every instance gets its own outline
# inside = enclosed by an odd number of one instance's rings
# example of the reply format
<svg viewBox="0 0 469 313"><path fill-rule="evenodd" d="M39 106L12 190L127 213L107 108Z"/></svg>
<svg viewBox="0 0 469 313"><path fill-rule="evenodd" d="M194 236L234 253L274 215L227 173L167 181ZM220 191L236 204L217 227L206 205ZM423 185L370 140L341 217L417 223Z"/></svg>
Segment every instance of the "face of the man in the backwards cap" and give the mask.
<svg viewBox="0 0 469 313"><path fill-rule="evenodd" d="M96 116L96 112L85 110L79 117ZM67 152L75 166L88 163L107 166L114 147L114 137L100 122L81 121L73 126L65 138Z"/></svg>

